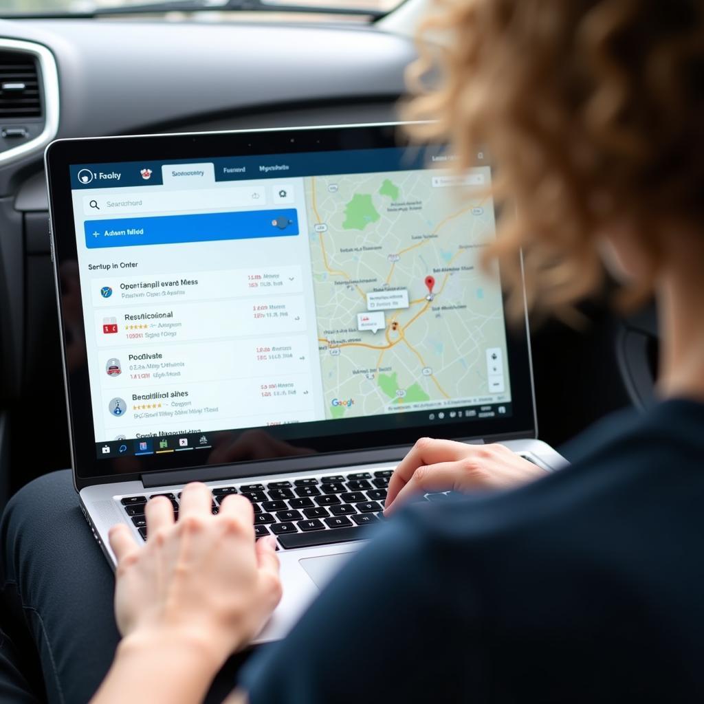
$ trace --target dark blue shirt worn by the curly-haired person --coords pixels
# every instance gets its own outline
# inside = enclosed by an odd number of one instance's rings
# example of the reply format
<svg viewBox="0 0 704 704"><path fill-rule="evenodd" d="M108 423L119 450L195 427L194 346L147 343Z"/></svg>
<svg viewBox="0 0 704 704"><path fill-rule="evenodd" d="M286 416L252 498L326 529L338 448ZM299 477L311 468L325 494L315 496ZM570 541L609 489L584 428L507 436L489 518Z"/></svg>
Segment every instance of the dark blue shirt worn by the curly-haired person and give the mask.
<svg viewBox="0 0 704 704"><path fill-rule="evenodd" d="M515 491L413 505L253 658L251 704L704 700L704 405Z"/></svg>

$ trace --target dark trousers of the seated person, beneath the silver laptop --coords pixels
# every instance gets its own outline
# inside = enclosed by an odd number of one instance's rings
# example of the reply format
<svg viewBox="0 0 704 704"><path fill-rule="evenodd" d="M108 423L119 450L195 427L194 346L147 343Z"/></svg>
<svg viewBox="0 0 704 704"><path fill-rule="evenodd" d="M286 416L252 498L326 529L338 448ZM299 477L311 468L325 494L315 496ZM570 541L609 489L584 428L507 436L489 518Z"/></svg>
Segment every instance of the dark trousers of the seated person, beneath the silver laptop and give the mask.
<svg viewBox="0 0 704 704"><path fill-rule="evenodd" d="M68 470L39 477L9 501L0 522L0 587L0 702L86 703L120 636L113 571ZM227 662L206 701L227 696L247 655Z"/></svg>

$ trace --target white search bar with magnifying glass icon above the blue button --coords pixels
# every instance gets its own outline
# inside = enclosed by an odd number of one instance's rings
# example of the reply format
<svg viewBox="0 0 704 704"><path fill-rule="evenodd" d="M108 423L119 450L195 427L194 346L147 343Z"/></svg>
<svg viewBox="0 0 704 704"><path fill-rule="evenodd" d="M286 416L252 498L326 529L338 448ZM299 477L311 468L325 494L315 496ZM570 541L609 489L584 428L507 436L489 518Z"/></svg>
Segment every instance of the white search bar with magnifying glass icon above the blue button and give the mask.
<svg viewBox="0 0 704 704"><path fill-rule="evenodd" d="M176 210L217 210L218 208L261 208L266 205L263 186L236 188L162 191L161 193L120 193L110 196L84 196L83 213L91 218L99 215L132 215L168 213Z"/></svg>

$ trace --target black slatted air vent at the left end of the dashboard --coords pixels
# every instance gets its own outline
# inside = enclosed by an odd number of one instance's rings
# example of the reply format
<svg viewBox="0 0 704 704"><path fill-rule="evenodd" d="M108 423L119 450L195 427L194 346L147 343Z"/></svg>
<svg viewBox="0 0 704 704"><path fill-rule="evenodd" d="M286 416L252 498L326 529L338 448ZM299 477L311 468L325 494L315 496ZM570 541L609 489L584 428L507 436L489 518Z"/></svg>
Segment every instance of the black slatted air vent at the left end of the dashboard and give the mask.
<svg viewBox="0 0 704 704"><path fill-rule="evenodd" d="M40 117L37 59L25 52L0 51L0 120Z"/></svg>

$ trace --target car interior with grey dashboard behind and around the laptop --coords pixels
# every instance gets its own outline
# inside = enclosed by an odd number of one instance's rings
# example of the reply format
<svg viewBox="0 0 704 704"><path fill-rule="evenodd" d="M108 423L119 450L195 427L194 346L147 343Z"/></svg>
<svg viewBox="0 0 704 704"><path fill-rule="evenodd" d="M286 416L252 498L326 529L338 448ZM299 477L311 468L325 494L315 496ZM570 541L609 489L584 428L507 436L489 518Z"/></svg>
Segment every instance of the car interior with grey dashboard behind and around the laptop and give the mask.
<svg viewBox="0 0 704 704"><path fill-rule="evenodd" d="M0 509L71 462L44 149L66 137L398 119L425 0L301 2L4 3ZM593 422L648 405L658 366L652 304L622 316L607 283L580 313L530 320L539 437L567 459Z"/></svg>

